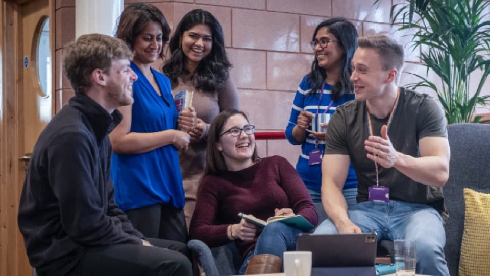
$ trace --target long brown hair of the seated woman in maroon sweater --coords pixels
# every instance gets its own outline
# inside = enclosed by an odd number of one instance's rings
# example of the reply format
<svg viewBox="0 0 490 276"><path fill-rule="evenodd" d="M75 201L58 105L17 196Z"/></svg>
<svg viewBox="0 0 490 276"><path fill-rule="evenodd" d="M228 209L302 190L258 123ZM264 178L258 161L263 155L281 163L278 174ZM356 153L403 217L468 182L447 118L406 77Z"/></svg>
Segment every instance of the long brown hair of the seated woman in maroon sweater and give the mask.
<svg viewBox="0 0 490 276"><path fill-rule="evenodd" d="M236 114L241 114L245 118L245 120L249 122L249 118L247 118L247 114L245 114L245 112L233 108L228 108L220 112L216 117L214 117L208 132L206 167L204 169L204 176L210 174L219 174L228 171L225 163L225 158L223 158L223 153L218 150L216 144L220 139L219 134L222 133L223 126L226 124L230 117ZM259 160L260 158L257 155L257 144L255 144L254 153L252 154L252 161L256 163Z"/></svg>

